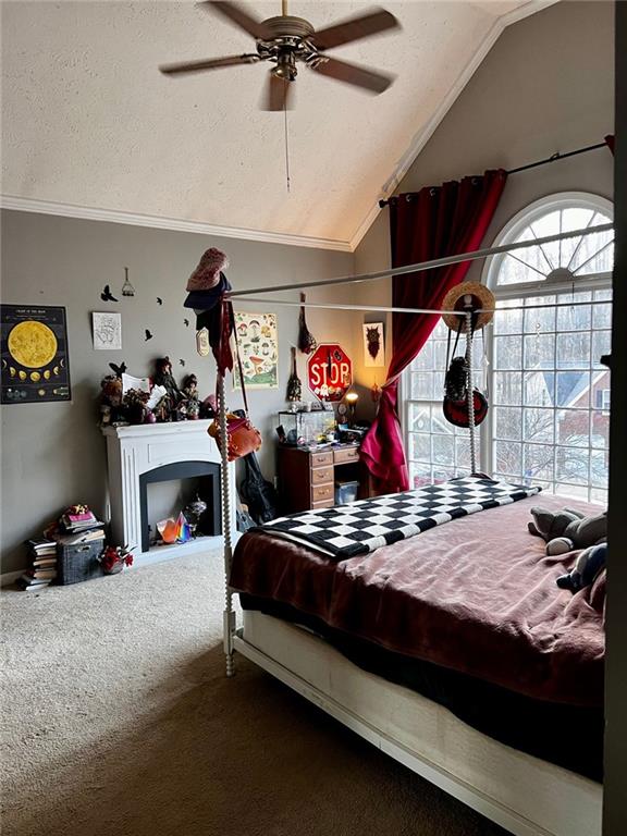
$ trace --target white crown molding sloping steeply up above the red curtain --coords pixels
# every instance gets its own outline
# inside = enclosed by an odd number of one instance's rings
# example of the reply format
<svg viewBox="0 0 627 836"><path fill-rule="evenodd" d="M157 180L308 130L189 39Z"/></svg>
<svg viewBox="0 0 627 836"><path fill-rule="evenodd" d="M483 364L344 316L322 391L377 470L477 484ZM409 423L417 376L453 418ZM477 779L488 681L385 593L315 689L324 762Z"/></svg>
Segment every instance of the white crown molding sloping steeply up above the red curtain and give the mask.
<svg viewBox="0 0 627 836"><path fill-rule="evenodd" d="M435 133L435 130L446 113L448 113L470 78L472 78L476 71L479 69L494 44L499 40L499 37L504 32L504 29L506 29L507 26L511 26L513 23L517 23L525 17L529 17L531 14L541 12L543 9L546 9L550 5L554 5L557 2L560 2L560 0L529 0L528 3L525 3L517 9L513 9L511 12L507 12L507 14L504 14L494 21L485 34L483 40L481 41L479 48L472 56L472 60L459 73L429 122L427 122L427 124L414 136L409 147L401 157L401 160L394 169L394 172L381 187L381 194L377 198L377 202L370 209L366 218L361 221L357 232L351 238L351 249L353 251L357 249L361 239L381 211L379 207L379 200L386 200L391 195L394 194L396 187L399 185L405 174L407 174L420 151L425 148L429 139L431 139Z"/></svg>

